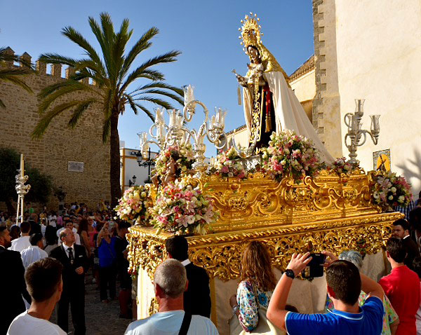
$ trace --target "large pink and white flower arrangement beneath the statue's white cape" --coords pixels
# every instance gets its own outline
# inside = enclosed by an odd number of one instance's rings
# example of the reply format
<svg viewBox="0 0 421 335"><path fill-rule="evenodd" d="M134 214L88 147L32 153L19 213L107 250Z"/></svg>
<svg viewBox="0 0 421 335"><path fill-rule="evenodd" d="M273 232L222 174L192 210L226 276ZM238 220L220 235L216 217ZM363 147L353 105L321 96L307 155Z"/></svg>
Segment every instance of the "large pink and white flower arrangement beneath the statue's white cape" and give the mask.
<svg viewBox="0 0 421 335"><path fill-rule="evenodd" d="M281 132L279 135L272 132L269 147L260 151L263 170L278 181L290 175L299 182L305 176L316 176L324 167L313 142L291 130Z"/></svg>

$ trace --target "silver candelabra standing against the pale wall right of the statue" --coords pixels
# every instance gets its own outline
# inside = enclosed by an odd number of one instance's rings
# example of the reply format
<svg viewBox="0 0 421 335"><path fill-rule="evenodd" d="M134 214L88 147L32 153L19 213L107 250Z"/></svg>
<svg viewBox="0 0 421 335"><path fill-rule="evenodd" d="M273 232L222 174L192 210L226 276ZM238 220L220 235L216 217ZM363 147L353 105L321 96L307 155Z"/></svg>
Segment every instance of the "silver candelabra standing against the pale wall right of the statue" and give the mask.
<svg viewBox="0 0 421 335"><path fill-rule="evenodd" d="M345 135L345 145L349 151L349 163L358 164L356 159L356 149L366 143L367 135L370 135L373 143L377 145L380 134L380 115L370 115L371 126L370 131L361 129L361 118L364 115L363 106L364 99L356 99L355 113L347 113L344 117L345 125L348 127L348 132ZM348 144L349 142L349 144Z"/></svg>

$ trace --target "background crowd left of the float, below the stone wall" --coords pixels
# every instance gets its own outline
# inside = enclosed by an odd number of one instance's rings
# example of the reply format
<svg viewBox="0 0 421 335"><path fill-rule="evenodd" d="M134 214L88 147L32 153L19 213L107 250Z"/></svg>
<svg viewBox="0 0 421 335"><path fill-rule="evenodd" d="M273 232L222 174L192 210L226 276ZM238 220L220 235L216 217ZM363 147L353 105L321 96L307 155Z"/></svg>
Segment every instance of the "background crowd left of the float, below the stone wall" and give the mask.
<svg viewBox="0 0 421 335"><path fill-rule="evenodd" d="M13 317L25 309L28 310L33 301L25 289L23 273L32 264L48 258L56 259L62 264L61 298L57 304L60 329L66 333L69 331L70 307L74 334L86 334L84 306L85 284L88 281L97 285L98 299L102 303L108 303L109 299L118 299L120 317L131 320L132 283L131 275L128 274L126 240L129 227L130 224L125 221L112 219L112 212L106 203L98 205L95 212L88 210L83 204L72 203L65 205L60 214L46 212L45 208L36 214L32 207L27 207L21 223L16 223L15 217L0 213L1 267L10 268L9 262L15 260L11 267L15 271L2 276L0 282L4 284L3 287L8 287L15 280L20 283L14 290L20 296L18 302L14 303L15 308L7 308L1 314L4 315L5 322L0 322L0 334L6 334ZM119 292L116 289L117 278ZM28 282L26 285L28 286Z"/></svg>

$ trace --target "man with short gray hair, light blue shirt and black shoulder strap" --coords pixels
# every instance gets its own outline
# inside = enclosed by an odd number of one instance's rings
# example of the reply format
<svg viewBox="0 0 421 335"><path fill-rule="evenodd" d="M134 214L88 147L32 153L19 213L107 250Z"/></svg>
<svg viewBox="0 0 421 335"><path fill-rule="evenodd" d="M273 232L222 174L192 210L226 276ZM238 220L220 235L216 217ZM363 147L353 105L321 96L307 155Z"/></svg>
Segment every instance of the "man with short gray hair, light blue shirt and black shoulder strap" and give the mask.
<svg viewBox="0 0 421 335"><path fill-rule="evenodd" d="M128 325L126 335L217 335L215 325L201 315L184 311L183 294L187 289L185 267L175 259L167 259L154 274L155 296L159 312Z"/></svg>

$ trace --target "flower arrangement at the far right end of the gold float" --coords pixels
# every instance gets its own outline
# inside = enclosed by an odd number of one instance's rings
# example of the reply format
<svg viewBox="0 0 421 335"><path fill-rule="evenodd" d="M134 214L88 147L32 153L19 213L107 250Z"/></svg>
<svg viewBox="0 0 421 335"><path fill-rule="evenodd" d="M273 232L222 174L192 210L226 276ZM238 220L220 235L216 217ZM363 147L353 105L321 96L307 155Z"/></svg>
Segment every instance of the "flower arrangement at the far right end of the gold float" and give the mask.
<svg viewBox="0 0 421 335"><path fill-rule="evenodd" d="M371 186L373 202L383 208L409 205L413 196L410 191L410 184L401 176L396 176L394 172L380 172L373 175L373 185Z"/></svg>

